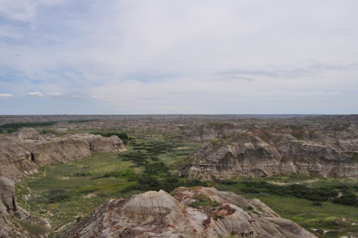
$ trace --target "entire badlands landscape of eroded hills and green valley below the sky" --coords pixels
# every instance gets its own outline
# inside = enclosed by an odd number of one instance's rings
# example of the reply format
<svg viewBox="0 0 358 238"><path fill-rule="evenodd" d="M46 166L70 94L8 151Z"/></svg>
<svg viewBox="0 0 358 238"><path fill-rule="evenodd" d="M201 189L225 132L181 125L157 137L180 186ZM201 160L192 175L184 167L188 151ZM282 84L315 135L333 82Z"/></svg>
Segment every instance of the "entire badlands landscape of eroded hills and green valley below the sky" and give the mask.
<svg viewBox="0 0 358 238"><path fill-rule="evenodd" d="M0 238L358 236L358 116L0 116Z"/></svg>

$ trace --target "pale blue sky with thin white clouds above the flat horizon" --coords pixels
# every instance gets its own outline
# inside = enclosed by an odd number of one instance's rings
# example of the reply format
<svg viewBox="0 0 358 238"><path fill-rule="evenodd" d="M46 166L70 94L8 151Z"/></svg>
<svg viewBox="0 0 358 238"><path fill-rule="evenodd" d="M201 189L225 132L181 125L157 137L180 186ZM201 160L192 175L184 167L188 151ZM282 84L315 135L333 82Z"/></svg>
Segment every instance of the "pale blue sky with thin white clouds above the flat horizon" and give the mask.
<svg viewBox="0 0 358 238"><path fill-rule="evenodd" d="M357 0L0 0L0 115L358 114Z"/></svg>

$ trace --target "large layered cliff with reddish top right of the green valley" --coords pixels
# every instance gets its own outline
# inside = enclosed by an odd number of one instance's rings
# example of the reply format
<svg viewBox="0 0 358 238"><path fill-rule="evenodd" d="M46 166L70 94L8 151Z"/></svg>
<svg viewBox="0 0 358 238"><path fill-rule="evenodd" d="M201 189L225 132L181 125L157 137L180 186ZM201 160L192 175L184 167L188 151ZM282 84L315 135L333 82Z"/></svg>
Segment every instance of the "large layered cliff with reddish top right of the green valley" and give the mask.
<svg viewBox="0 0 358 238"><path fill-rule="evenodd" d="M206 143L182 172L191 178L213 180L236 176L299 173L358 177L357 145L317 133L269 133L252 130L227 143Z"/></svg>

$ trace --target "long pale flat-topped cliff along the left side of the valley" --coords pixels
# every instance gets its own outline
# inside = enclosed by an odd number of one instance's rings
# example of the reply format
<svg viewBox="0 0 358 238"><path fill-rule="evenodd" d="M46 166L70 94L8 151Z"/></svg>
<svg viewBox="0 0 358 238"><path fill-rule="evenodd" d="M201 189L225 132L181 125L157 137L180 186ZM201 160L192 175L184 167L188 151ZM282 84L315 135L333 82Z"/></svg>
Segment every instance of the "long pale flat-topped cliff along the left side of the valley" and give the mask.
<svg viewBox="0 0 358 238"><path fill-rule="evenodd" d="M11 139L0 135L0 174L17 182L37 168L89 156L91 152L124 151L117 136L76 134L65 137Z"/></svg>

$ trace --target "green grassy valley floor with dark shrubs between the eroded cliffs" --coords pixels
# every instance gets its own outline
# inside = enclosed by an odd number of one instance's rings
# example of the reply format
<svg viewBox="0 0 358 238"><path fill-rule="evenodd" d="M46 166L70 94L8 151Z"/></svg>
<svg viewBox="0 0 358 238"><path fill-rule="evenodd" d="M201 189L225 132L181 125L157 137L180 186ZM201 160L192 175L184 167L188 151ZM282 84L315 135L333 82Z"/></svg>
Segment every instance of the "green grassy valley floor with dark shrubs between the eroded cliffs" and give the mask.
<svg viewBox="0 0 358 238"><path fill-rule="evenodd" d="M247 199L260 199L281 217L318 237L349 237L358 233L358 207L334 203L329 197L330 192L341 191L357 195L357 180L291 175L200 182L178 177L179 171L175 169L200 144L166 142L163 134L157 133L130 134L130 137L133 139L124 153L95 153L41 168L38 174L16 184L17 202L49 219L58 230L81 220L111 198L157 189L170 192L179 186L213 186Z"/></svg>

